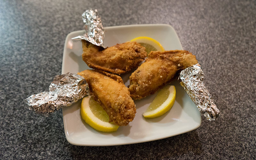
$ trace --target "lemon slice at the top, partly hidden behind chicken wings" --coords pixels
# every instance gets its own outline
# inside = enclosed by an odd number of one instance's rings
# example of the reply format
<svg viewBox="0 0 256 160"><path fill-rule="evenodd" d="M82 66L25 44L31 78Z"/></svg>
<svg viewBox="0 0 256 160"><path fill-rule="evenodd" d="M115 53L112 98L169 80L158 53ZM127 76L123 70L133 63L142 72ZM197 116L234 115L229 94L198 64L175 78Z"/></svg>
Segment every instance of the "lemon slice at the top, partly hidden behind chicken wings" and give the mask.
<svg viewBox="0 0 256 160"><path fill-rule="evenodd" d="M149 53L151 51L164 51L164 47L157 42L155 39L150 37L137 37L131 40L132 42L135 41L146 48L146 52Z"/></svg>

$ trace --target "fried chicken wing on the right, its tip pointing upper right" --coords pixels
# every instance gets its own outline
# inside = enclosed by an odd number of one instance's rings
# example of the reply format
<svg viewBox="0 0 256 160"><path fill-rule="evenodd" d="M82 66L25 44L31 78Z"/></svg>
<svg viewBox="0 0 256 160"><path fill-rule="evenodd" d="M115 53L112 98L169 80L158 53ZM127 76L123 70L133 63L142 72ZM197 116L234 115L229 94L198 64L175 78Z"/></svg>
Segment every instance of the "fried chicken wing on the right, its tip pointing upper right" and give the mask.
<svg viewBox="0 0 256 160"><path fill-rule="evenodd" d="M174 79L180 70L196 63L196 56L188 51L151 51L146 61L130 76L131 97L141 99L154 94Z"/></svg>

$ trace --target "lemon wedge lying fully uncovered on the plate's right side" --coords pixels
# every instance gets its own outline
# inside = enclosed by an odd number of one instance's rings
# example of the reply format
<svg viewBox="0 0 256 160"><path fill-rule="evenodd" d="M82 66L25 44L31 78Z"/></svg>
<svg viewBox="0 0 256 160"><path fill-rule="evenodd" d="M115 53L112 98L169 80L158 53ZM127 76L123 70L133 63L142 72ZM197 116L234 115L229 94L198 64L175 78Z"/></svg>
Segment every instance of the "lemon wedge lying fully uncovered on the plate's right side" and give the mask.
<svg viewBox="0 0 256 160"><path fill-rule="evenodd" d="M162 116L170 110L176 98L176 89L174 85L166 85L160 90L156 98L148 106L147 110L143 113L146 118L155 118Z"/></svg>

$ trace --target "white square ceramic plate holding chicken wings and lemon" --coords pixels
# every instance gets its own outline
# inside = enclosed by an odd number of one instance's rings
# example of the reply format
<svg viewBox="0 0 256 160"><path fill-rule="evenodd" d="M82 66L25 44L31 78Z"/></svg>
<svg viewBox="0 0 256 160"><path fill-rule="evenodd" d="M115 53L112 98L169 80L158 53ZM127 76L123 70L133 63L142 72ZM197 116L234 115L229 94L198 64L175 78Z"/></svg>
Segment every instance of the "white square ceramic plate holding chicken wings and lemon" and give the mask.
<svg viewBox="0 0 256 160"><path fill-rule="evenodd" d="M81 57L82 43L71 40L72 37L83 35L83 33L84 31L81 30L68 34L63 53L62 74L78 73L89 69ZM183 49L175 30L172 26L165 24L106 27L104 44L112 46L138 36L156 39L165 50ZM121 75L126 86L129 85L131 73L132 71ZM163 116L146 119L142 113L154 100L156 94L142 100L134 100L137 108L134 120L127 126L119 127L116 132L98 132L86 124L80 116L81 100L70 107L64 107L63 122L68 142L79 146L114 146L159 140L195 130L201 125L199 111L178 82L173 82L172 85L176 87L176 100L170 111Z"/></svg>

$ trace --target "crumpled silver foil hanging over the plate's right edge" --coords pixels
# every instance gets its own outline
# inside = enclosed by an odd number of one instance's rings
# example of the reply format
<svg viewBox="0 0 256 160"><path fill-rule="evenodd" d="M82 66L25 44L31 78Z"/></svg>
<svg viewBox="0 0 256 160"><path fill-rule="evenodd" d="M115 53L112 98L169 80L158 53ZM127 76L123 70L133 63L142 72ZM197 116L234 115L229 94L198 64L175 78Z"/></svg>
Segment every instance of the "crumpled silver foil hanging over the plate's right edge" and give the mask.
<svg viewBox="0 0 256 160"><path fill-rule="evenodd" d="M213 103L211 94L204 86L204 72L198 63L182 70L178 79L180 85L184 87L207 120L214 121L220 116L219 109Z"/></svg>

